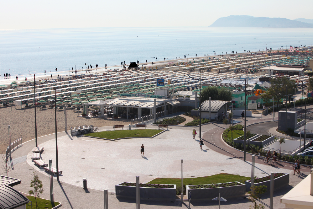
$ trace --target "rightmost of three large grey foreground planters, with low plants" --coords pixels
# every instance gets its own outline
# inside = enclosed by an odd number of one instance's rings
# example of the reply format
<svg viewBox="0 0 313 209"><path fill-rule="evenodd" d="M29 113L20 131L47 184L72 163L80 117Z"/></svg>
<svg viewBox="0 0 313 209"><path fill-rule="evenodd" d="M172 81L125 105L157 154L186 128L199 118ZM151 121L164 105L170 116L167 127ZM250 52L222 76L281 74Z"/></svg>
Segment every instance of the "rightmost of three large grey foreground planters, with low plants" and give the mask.
<svg viewBox="0 0 313 209"><path fill-rule="evenodd" d="M289 184L289 174L275 173L274 174L274 190L277 190L283 186ZM251 190L251 180L245 181L246 191ZM267 192L270 191L271 175L264 176L262 178L254 179L255 186L266 186ZM266 192L266 193L267 193Z"/></svg>

